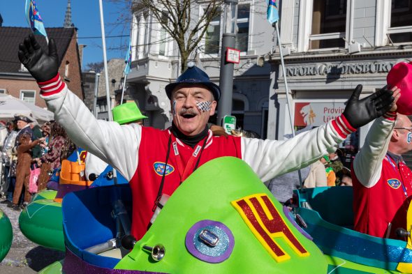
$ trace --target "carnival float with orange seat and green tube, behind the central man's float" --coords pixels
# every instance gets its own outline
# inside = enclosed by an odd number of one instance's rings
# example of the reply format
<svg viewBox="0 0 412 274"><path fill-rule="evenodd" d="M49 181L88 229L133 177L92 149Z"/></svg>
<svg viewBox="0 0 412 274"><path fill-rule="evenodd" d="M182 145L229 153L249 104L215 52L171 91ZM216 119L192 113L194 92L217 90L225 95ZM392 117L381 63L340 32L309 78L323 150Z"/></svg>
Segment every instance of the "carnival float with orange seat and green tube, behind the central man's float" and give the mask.
<svg viewBox="0 0 412 274"><path fill-rule="evenodd" d="M80 149L79 155L82 155ZM83 158L80 156L80 158ZM61 200L69 192L84 190L101 185L128 183L119 173L116 178L113 168L108 166L96 181L84 178L84 162L73 153L61 162L61 170L52 174L50 181L56 182L57 190L38 192L33 201L20 213L20 230L30 241L46 248L64 251L64 235L61 215Z"/></svg>

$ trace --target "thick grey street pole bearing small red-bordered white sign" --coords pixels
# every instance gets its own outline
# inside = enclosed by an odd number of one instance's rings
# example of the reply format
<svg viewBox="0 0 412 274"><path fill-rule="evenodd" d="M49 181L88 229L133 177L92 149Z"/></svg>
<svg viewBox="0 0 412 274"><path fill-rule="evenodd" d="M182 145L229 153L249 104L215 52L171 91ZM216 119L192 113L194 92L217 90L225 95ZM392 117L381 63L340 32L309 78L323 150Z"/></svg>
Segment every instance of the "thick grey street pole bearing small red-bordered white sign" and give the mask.
<svg viewBox="0 0 412 274"><path fill-rule="evenodd" d="M225 0L219 80L221 98L217 112L218 125L223 125L224 116L232 114L233 66L240 61L240 51L235 50L236 20L237 0Z"/></svg>

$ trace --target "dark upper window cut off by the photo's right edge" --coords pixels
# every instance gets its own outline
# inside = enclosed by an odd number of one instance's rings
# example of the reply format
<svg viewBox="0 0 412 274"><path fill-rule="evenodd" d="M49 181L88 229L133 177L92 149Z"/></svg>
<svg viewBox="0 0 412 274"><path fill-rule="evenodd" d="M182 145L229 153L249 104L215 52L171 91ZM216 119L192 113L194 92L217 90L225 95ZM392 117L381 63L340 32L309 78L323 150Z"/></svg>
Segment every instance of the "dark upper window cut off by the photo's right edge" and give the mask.
<svg viewBox="0 0 412 274"><path fill-rule="evenodd" d="M412 42L412 0L392 0L388 38L392 43Z"/></svg>

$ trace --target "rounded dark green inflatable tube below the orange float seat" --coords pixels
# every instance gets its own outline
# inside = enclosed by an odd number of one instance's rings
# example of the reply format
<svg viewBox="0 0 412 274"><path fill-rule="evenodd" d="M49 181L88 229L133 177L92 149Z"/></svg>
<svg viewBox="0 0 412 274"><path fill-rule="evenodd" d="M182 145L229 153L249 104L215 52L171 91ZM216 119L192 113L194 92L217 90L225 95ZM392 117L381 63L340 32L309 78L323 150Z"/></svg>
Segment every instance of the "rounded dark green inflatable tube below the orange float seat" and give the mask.
<svg viewBox="0 0 412 274"><path fill-rule="evenodd" d="M46 248L64 251L61 203L39 199L32 201L19 217L20 230L30 241Z"/></svg>

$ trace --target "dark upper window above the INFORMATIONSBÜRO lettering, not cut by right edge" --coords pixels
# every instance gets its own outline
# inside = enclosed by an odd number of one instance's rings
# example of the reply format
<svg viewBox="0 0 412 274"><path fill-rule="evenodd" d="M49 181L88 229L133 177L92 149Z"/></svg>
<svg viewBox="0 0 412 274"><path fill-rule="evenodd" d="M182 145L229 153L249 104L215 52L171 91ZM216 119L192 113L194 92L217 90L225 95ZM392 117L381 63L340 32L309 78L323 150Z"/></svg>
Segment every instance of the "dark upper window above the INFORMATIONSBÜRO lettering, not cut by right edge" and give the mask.
<svg viewBox="0 0 412 274"><path fill-rule="evenodd" d="M345 47L347 0L313 0L309 50Z"/></svg>

